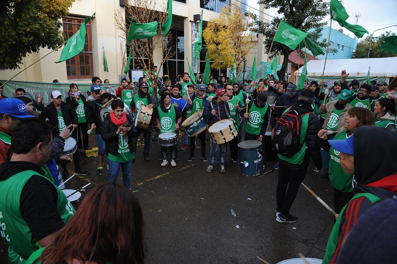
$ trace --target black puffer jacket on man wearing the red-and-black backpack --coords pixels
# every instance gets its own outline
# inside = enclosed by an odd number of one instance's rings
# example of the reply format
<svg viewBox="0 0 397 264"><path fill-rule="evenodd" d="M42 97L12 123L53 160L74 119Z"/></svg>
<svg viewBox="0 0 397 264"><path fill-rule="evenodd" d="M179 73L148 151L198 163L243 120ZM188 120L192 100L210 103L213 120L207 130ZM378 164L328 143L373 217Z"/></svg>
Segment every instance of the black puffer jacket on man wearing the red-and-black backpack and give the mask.
<svg viewBox="0 0 397 264"><path fill-rule="evenodd" d="M317 136L318 131L320 131L320 121L318 117L313 114L312 105L303 100L298 100L296 104L291 106L291 110L296 110L299 114L306 114L310 112L308 125L307 125L307 133L306 133L306 152L301 164L291 164L284 160L279 159L280 164L289 168L289 170L299 170L302 168L306 168L309 165L310 157L313 159L314 164L317 167L317 170L322 169L322 159L320 154L320 145L319 139Z"/></svg>

